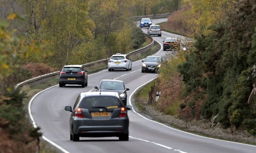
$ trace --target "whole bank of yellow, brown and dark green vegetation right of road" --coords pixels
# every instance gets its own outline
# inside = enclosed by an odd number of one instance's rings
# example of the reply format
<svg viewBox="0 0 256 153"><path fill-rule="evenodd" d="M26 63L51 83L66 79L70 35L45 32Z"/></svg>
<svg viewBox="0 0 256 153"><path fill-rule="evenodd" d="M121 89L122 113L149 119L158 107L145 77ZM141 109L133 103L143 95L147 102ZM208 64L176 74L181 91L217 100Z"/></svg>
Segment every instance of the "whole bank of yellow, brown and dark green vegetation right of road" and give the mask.
<svg viewBox="0 0 256 153"><path fill-rule="evenodd" d="M187 51L161 65L156 108L185 121L216 122L256 135L256 102L249 71L256 64L254 0L185 0L165 23L194 38ZM163 25L162 25L163 26Z"/></svg>

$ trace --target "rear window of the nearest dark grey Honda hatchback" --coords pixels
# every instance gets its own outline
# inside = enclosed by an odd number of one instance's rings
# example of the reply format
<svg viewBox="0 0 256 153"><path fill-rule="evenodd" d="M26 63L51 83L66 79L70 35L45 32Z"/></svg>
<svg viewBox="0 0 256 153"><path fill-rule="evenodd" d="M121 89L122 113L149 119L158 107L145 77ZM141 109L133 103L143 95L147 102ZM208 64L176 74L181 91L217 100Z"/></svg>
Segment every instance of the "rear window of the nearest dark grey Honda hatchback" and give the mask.
<svg viewBox="0 0 256 153"><path fill-rule="evenodd" d="M80 108L91 109L105 107L106 109L121 107L120 100L114 96L84 97L79 104Z"/></svg>

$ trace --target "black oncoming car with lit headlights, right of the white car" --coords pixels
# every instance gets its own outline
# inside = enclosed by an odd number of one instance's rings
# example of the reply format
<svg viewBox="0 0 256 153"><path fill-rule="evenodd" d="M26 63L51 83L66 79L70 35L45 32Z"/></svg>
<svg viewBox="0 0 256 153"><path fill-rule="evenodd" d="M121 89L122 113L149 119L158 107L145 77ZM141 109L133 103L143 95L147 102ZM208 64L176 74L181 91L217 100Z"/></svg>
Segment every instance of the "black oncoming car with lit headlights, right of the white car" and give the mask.
<svg viewBox="0 0 256 153"><path fill-rule="evenodd" d="M162 58L160 56L147 56L142 60L141 72L159 72L161 67Z"/></svg>

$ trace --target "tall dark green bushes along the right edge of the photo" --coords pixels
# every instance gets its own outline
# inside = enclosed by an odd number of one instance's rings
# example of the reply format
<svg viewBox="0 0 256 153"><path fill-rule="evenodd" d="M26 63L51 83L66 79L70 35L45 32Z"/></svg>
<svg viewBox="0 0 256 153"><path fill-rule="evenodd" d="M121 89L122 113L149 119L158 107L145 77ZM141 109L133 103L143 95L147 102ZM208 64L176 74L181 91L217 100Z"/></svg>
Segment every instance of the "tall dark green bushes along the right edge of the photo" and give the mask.
<svg viewBox="0 0 256 153"><path fill-rule="evenodd" d="M256 65L256 1L237 1L227 21L210 29L208 35L196 38L194 51L178 67L185 95L203 88L208 97L201 116L209 119L218 114L224 128L244 124L255 134L256 112L247 103L253 83L247 78Z"/></svg>

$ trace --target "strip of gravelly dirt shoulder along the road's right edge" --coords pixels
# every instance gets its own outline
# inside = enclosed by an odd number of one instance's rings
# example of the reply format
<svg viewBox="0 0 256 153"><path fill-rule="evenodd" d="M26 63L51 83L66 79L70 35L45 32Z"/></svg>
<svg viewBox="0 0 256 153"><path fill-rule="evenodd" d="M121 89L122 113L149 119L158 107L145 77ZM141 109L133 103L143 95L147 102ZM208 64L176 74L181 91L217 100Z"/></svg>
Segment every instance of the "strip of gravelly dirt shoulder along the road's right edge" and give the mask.
<svg viewBox="0 0 256 153"><path fill-rule="evenodd" d="M175 116L164 115L153 106L150 105L142 105L143 107L139 111L140 114L150 118L154 121L158 121L160 123L168 124L171 127L175 127L179 130L192 132L198 135L216 138L216 139L223 139L228 141L235 141L245 144L253 144L256 145L256 137L251 134L248 134L247 131L233 131L231 134L230 129L223 129L220 125L211 126L211 123L208 121L200 120L200 121L193 121L193 122L186 122L182 119L176 118ZM138 109L136 109L138 111Z"/></svg>

